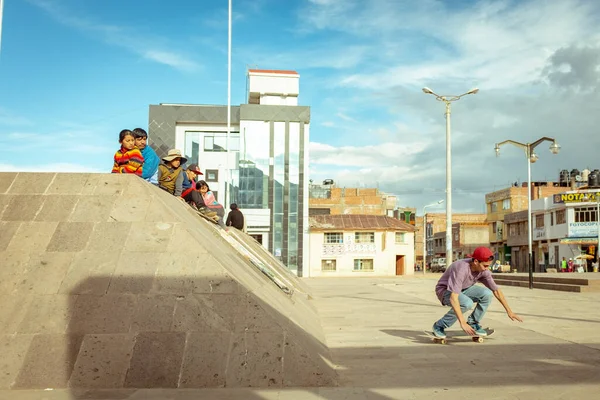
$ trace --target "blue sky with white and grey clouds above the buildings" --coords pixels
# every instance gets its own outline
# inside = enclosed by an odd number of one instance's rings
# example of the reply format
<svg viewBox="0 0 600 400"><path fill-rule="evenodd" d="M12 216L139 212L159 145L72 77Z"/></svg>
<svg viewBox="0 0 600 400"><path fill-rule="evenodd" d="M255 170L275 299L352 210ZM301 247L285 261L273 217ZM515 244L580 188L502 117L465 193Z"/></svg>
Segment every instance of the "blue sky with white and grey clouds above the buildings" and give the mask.
<svg viewBox="0 0 600 400"><path fill-rule="evenodd" d="M124 128L159 103L227 104L227 0L5 0L0 171L108 172ZM300 74L310 179L377 187L400 207L445 199L452 103L453 212L485 194L600 168L600 2L233 0L232 104L246 70ZM152 139L152 138L150 138ZM442 204L428 212L443 212Z"/></svg>

